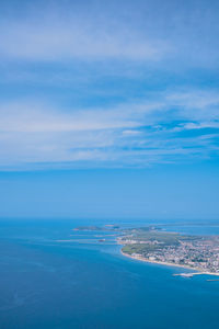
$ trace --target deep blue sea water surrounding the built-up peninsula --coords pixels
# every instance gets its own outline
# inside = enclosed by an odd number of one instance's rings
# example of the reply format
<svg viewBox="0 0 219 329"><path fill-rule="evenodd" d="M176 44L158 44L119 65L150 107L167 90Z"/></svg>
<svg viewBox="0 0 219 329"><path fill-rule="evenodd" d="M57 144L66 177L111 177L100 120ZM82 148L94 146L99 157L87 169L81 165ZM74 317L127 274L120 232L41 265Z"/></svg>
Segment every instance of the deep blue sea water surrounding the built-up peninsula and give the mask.
<svg viewBox="0 0 219 329"><path fill-rule="evenodd" d="M88 224L0 222L1 329L219 328L219 282L173 276L182 270L123 257L115 237L72 231ZM219 226L165 229L219 234Z"/></svg>

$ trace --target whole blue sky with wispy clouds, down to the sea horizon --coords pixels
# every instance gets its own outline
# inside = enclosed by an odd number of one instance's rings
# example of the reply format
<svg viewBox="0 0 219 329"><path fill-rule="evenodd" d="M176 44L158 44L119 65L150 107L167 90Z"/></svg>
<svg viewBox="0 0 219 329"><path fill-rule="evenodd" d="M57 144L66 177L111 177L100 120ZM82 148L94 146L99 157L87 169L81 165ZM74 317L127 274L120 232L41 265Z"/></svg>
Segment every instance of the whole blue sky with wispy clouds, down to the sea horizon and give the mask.
<svg viewBox="0 0 219 329"><path fill-rule="evenodd" d="M0 2L0 217L219 219L219 2Z"/></svg>

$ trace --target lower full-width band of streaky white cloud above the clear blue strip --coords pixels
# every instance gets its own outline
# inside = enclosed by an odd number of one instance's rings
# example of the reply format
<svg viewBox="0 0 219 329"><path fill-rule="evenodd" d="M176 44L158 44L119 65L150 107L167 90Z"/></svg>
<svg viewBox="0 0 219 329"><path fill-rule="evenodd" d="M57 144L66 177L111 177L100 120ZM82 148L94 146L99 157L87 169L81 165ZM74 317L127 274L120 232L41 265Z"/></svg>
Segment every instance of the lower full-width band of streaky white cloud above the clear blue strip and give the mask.
<svg viewBox="0 0 219 329"><path fill-rule="evenodd" d="M1 167L76 166L79 161L106 167L148 166L210 157L218 152L217 93L215 98L210 93L210 103L204 102L200 91L193 101L194 94L188 99L187 93L161 93L159 102L150 98L110 109L71 111L30 100L4 104L0 109ZM214 128L214 134L204 128ZM188 131L199 133L184 135Z"/></svg>

